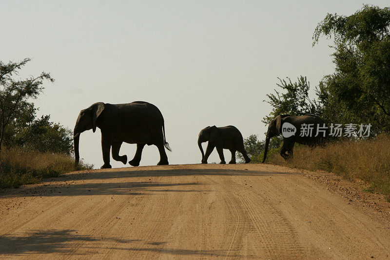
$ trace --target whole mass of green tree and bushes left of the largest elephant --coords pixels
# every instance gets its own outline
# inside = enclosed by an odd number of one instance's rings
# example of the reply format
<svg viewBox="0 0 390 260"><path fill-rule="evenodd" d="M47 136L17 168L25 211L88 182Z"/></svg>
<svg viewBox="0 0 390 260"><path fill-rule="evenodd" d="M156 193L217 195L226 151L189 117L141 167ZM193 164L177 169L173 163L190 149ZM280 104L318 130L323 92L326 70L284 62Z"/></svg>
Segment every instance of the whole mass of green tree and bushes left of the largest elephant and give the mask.
<svg viewBox="0 0 390 260"><path fill-rule="evenodd" d="M31 99L42 92L43 80L54 79L42 72L38 77L19 79L20 69L29 62L0 61L0 149L6 146L20 146L39 152L73 152L72 133L59 123L50 121L50 115L36 119L37 108Z"/></svg>

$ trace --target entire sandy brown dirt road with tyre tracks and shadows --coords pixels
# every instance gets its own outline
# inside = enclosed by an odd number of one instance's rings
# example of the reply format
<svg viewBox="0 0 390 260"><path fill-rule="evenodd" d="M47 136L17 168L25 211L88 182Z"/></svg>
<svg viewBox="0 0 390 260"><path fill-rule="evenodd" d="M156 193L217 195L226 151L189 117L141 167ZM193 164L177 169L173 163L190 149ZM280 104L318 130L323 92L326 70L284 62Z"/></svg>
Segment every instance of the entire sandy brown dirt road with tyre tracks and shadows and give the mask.
<svg viewBox="0 0 390 260"><path fill-rule="evenodd" d="M312 179L256 164L70 173L2 191L0 257L389 258L389 221Z"/></svg>

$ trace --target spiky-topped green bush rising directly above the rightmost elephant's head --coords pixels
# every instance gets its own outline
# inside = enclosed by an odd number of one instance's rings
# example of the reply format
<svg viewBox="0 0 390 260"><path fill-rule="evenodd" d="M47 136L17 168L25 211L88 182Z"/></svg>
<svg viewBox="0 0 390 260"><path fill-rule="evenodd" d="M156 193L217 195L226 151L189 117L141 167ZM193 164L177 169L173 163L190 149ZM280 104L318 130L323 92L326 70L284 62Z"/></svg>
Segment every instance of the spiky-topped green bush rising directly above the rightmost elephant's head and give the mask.
<svg viewBox="0 0 390 260"><path fill-rule="evenodd" d="M298 81L293 83L290 78L287 78L287 81L278 79L280 83L276 85L285 93L275 89L276 94L267 94L269 100L264 101L271 104L273 110L262 122L269 123L280 114L300 116L318 112L319 104L309 98L310 82L306 77L300 76Z"/></svg>

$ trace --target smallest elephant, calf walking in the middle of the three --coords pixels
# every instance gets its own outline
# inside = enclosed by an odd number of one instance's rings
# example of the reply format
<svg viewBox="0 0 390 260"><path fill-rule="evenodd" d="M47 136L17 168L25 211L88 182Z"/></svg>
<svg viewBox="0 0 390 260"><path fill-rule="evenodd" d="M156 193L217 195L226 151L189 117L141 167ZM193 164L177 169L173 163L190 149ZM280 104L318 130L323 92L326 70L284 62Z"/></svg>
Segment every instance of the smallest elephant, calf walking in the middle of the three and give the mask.
<svg viewBox="0 0 390 260"><path fill-rule="evenodd" d="M203 153L202 143L208 141L206 155ZM225 164L225 158L223 156L223 149L229 149L232 153L232 160L229 163L235 163L235 151L240 152L245 159L245 163L251 161L249 159L247 152L244 147L244 140L240 131L235 128L233 125L224 126L224 127L216 127L208 126L202 129L199 132L198 137L198 146L200 152L202 153L202 163L207 163L207 159L209 158L211 152L213 152L214 147L218 152L219 158L221 159L220 164Z"/></svg>

